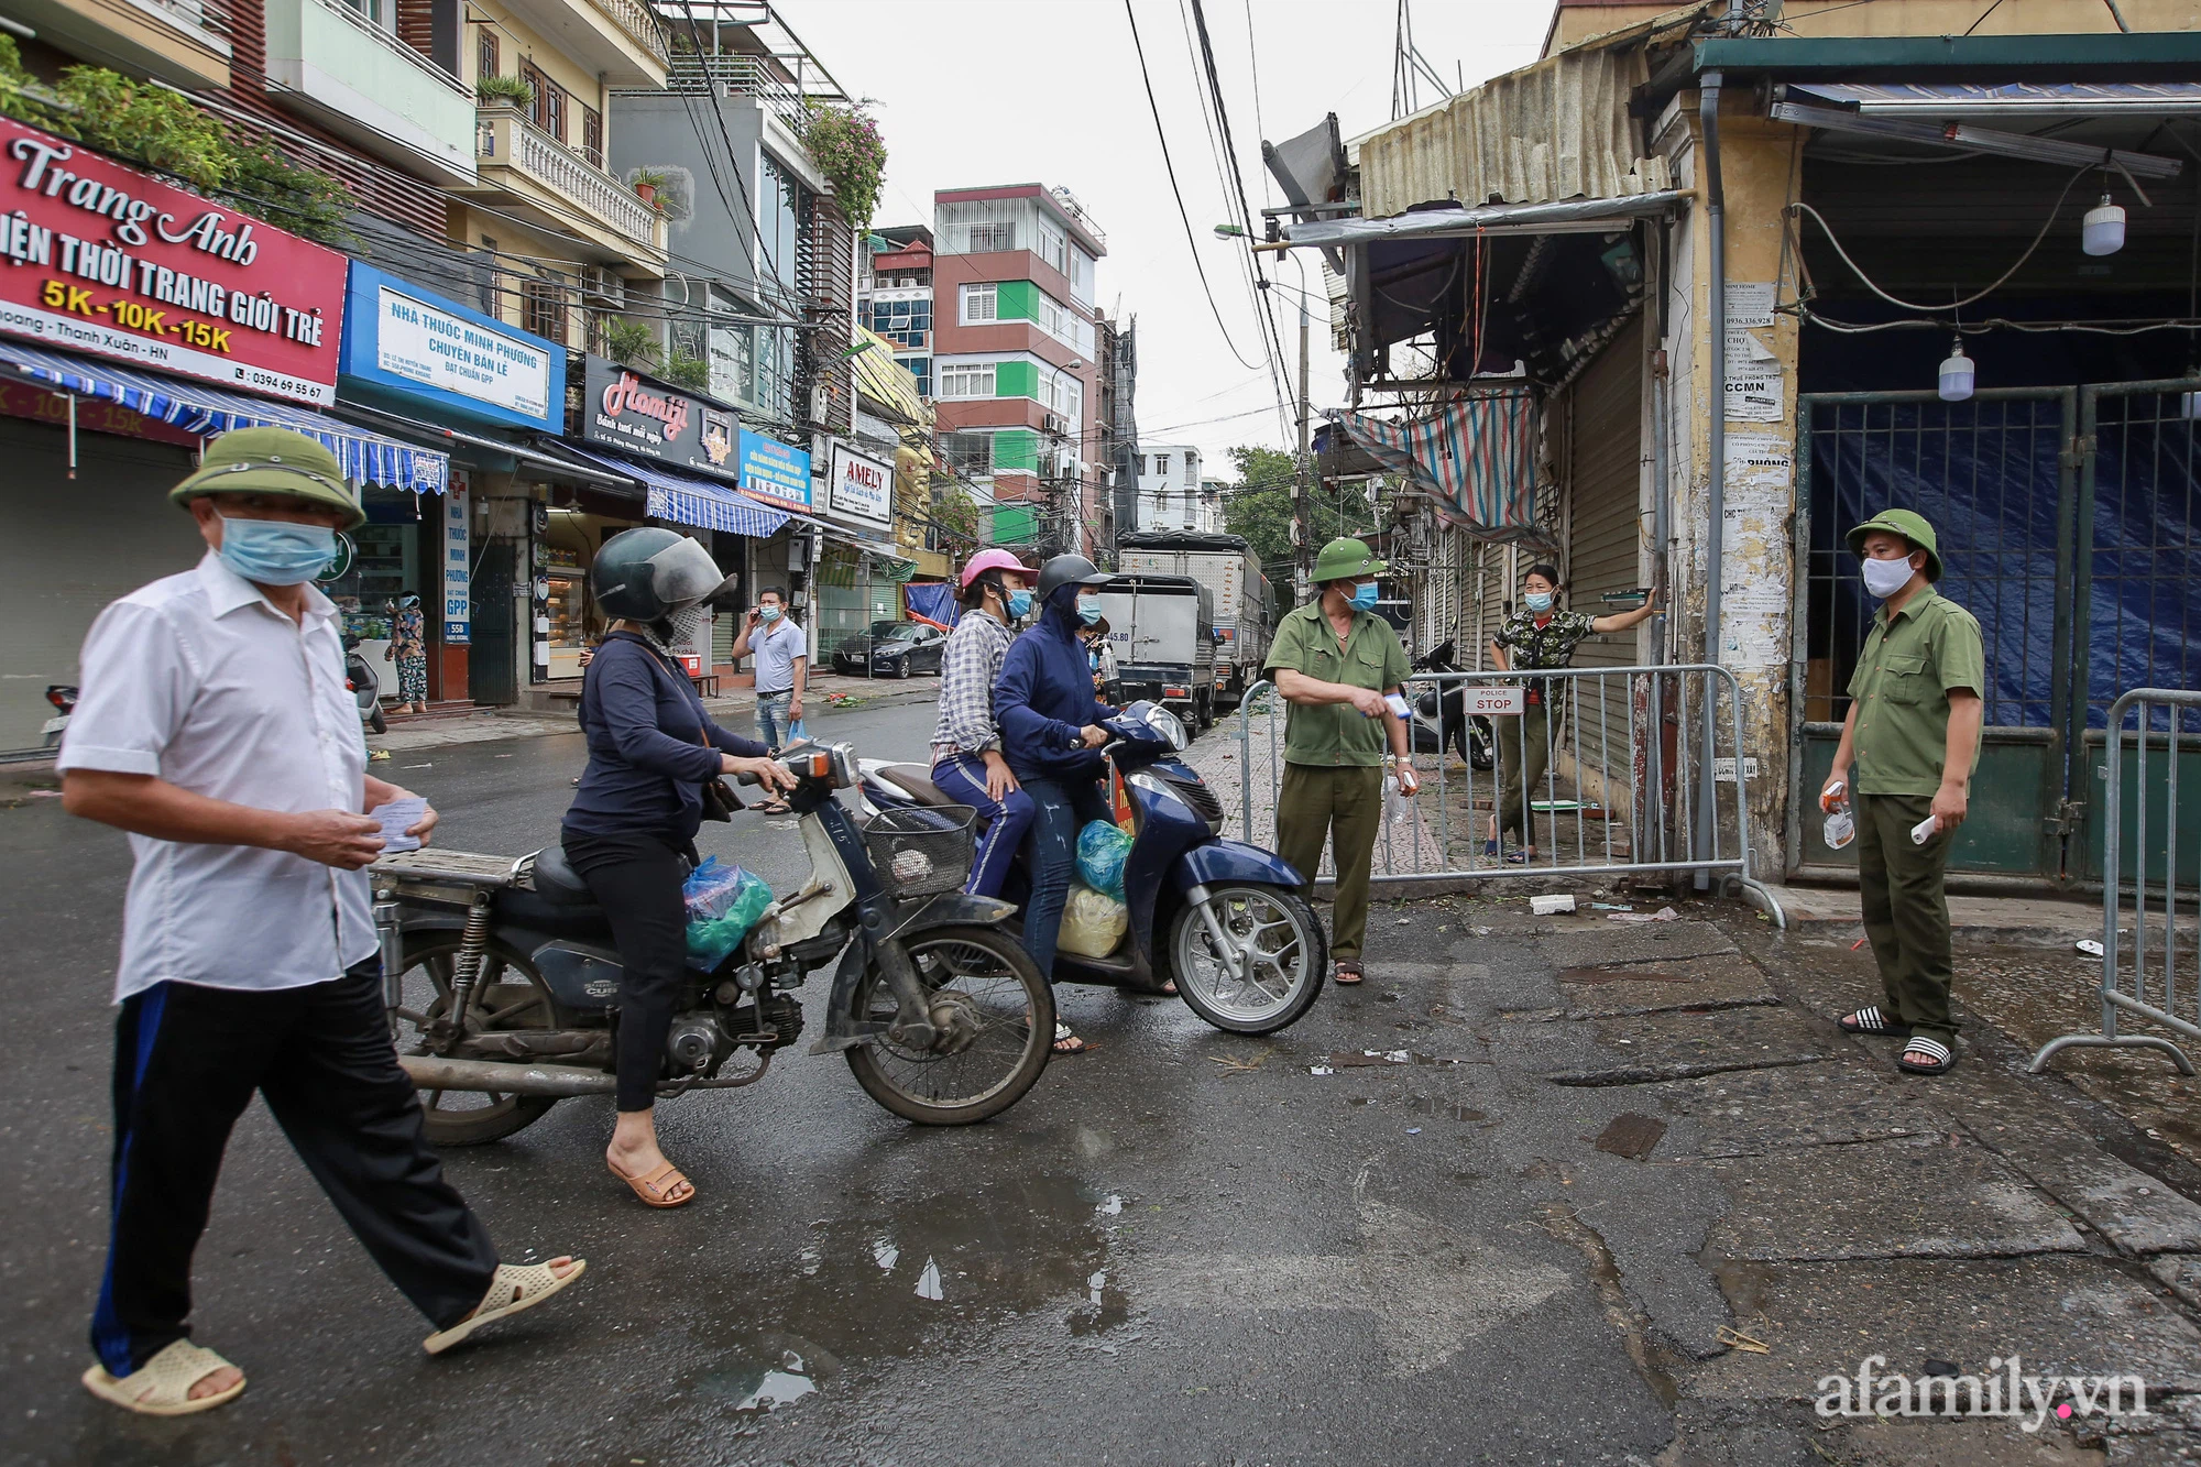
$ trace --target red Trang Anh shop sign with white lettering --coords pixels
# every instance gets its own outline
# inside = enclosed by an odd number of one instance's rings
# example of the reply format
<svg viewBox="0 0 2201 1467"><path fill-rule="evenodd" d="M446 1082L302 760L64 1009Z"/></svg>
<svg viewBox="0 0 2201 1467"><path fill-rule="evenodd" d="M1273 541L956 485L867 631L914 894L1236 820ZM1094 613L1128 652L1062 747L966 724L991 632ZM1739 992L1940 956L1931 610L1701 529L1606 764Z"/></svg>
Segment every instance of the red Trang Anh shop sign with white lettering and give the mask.
<svg viewBox="0 0 2201 1467"><path fill-rule="evenodd" d="M0 117L0 333L337 401L346 260Z"/></svg>

